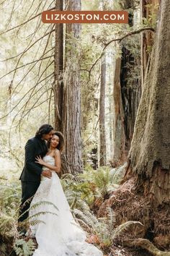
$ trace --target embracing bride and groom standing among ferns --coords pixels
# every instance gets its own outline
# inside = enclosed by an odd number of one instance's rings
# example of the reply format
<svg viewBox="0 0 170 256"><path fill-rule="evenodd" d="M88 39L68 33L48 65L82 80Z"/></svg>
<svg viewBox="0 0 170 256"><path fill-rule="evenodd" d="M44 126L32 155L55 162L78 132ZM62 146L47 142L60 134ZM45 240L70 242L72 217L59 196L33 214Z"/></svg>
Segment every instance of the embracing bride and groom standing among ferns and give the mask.
<svg viewBox="0 0 170 256"><path fill-rule="evenodd" d="M74 220L64 195L59 179L63 143L61 132L54 132L50 124L43 124L27 141L20 176L19 222L28 216L37 221L36 225L30 223L26 233L37 241L33 256L102 256L97 247L86 242L85 231Z"/></svg>

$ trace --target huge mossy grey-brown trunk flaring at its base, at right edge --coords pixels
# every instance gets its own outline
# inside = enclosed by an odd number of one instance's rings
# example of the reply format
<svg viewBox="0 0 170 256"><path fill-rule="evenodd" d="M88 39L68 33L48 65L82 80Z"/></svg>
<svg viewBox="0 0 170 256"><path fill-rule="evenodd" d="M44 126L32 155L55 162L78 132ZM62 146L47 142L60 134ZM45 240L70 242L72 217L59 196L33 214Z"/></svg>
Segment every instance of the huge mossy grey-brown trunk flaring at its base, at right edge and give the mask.
<svg viewBox="0 0 170 256"><path fill-rule="evenodd" d="M170 200L169 23L170 2L162 0L125 176L137 176L137 188L157 204Z"/></svg>

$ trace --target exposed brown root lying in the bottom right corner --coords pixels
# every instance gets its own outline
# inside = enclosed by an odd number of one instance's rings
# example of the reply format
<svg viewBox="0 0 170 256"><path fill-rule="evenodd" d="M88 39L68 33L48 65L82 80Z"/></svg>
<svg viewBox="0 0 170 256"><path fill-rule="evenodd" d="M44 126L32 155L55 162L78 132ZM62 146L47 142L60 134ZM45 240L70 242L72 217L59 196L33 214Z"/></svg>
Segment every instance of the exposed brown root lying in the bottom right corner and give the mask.
<svg viewBox="0 0 170 256"><path fill-rule="evenodd" d="M123 242L123 245L126 247L140 247L141 249L146 249L153 256L170 256L170 252L162 252L156 248L148 239L128 239L127 241Z"/></svg>

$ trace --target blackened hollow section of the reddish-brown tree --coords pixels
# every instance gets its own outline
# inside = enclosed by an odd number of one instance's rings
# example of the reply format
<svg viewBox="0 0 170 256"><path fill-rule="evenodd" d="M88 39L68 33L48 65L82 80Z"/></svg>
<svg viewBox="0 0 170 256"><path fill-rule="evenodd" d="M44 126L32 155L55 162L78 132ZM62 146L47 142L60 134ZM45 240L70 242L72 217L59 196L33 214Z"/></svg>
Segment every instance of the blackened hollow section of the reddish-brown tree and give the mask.
<svg viewBox="0 0 170 256"><path fill-rule="evenodd" d="M138 58L138 59L137 59ZM124 129L125 129L125 155L128 156L130 144L133 138L133 130L138 106L141 97L140 70L137 74L133 69L140 66L140 56L133 56L130 51L122 47L122 59L120 70L120 85L122 95L122 108L124 111ZM137 77L137 78L136 78ZM129 80L129 82L128 82Z"/></svg>

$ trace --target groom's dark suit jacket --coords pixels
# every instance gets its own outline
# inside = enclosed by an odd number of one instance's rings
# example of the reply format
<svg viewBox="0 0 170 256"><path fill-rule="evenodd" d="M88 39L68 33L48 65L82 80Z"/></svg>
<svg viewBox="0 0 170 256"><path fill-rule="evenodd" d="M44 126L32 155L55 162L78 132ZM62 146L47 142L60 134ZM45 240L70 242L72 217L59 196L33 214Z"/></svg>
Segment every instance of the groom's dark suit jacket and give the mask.
<svg viewBox="0 0 170 256"><path fill-rule="evenodd" d="M48 152L45 140L41 140L38 137L33 137L32 139L27 141L24 149L24 168L19 179L22 182L40 183L40 174L42 173L42 166L39 163L35 163L35 158L39 155L43 158Z"/></svg>

